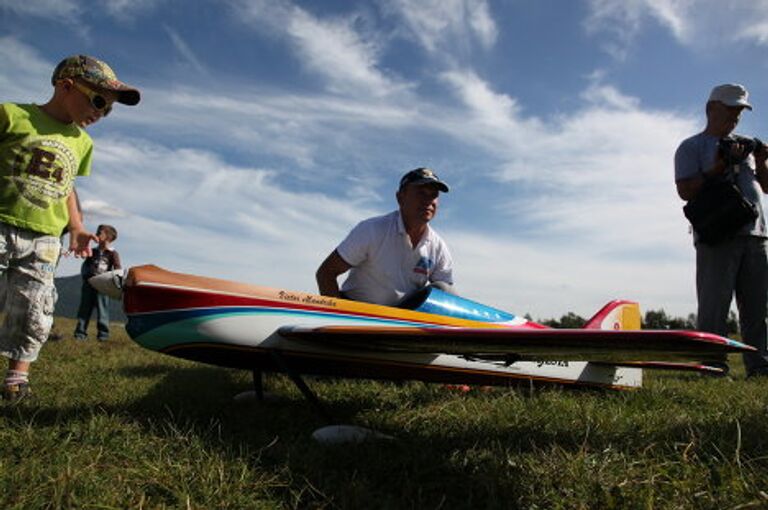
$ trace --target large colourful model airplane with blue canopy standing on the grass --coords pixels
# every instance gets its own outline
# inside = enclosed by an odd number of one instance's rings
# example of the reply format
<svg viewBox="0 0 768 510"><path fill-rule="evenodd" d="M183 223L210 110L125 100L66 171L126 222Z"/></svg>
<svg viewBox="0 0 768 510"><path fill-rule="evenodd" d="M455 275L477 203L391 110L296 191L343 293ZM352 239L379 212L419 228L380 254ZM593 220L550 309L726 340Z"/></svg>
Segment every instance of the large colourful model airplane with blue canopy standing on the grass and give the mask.
<svg viewBox="0 0 768 510"><path fill-rule="evenodd" d="M427 287L400 307L133 267L96 288L122 296L139 345L171 356L261 372L455 384L544 383L628 389L643 368L753 350L694 331L640 331L636 303L613 301L583 329L551 329Z"/></svg>

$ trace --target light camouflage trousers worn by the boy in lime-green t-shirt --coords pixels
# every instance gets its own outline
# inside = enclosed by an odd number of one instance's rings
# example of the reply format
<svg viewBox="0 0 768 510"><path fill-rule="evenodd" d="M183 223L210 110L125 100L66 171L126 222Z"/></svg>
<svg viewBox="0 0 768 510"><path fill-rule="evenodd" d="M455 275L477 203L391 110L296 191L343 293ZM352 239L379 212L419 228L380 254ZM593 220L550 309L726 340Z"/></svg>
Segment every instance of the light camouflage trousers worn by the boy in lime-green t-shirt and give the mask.
<svg viewBox="0 0 768 510"><path fill-rule="evenodd" d="M53 324L60 251L58 237L0 223L0 355L37 359Z"/></svg>

